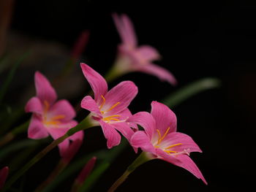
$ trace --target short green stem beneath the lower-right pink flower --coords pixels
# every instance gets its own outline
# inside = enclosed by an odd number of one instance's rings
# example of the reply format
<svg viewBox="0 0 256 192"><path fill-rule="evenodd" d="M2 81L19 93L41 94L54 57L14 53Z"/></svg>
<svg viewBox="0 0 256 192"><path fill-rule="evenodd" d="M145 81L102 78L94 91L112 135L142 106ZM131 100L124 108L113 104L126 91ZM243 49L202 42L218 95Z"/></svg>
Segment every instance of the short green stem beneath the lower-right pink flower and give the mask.
<svg viewBox="0 0 256 192"><path fill-rule="evenodd" d="M140 153L140 155L138 156L138 158L135 159L135 161L133 161L133 163L128 166L127 170L124 172L124 174L121 175L121 177L118 178L118 180L116 180L115 183L113 183L113 185L108 189L108 192L113 192L116 191L116 188L118 188L119 185L121 185L122 183L124 183L124 181L127 179L127 177L129 176L129 174L131 174L133 171L135 171L135 169L140 166L141 164L146 163L147 161L151 160L151 158L148 158L146 156L146 153Z"/></svg>

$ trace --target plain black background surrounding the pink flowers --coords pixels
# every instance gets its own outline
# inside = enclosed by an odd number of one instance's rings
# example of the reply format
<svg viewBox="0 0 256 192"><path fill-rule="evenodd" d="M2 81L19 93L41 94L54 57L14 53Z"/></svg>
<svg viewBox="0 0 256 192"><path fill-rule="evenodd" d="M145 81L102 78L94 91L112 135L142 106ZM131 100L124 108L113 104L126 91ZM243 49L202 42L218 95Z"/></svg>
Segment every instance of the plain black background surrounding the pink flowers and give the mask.
<svg viewBox="0 0 256 192"><path fill-rule="evenodd" d="M191 157L208 186L184 169L154 160L140 166L117 191L249 189L255 178L256 5L246 1L16 1L10 34L32 42L61 44L69 51L80 32L89 29L89 45L80 61L105 74L120 42L111 18L113 12L129 15L139 44L156 47L162 55L157 64L173 72L178 80L177 87L173 87L148 74L133 73L111 83L110 87L121 80L133 80L138 85L132 112L148 110L152 100L161 101L194 80L219 77L222 81L221 88L200 93L173 108L178 131L189 134L203 150ZM31 86L35 70L54 77L49 71L56 70L54 62L61 64L55 59L39 66L39 59L34 59L27 77L19 75ZM69 98L75 103L83 95ZM85 151L95 146L105 148L100 128L85 135ZM132 149L122 153L93 191L107 191L135 157ZM45 165L50 162L47 160ZM34 179L29 185L27 180L29 191L39 183Z"/></svg>

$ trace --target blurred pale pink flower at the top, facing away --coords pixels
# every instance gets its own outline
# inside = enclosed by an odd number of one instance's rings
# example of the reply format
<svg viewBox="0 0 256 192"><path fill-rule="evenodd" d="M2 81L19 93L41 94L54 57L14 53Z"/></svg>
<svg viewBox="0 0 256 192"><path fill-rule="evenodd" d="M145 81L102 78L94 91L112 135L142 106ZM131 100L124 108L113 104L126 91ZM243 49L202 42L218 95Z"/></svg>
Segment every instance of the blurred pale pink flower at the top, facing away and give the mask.
<svg viewBox="0 0 256 192"><path fill-rule="evenodd" d="M158 51L149 45L138 47L138 41L131 20L127 15L113 14L113 20L120 34L122 43L118 47L119 55L116 61L116 71L124 74L126 72L145 72L159 77L173 85L176 85L176 79L161 66L152 64L152 61L159 60L161 56Z"/></svg>

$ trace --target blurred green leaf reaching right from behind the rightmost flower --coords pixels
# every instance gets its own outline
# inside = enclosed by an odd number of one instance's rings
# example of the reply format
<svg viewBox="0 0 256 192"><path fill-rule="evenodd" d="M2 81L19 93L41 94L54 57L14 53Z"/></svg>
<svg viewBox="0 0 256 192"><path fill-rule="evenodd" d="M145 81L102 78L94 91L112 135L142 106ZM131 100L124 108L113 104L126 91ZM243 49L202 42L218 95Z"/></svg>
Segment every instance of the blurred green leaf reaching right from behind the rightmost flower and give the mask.
<svg viewBox="0 0 256 192"><path fill-rule="evenodd" d="M168 107L174 107L197 93L211 88L219 88L220 85L221 82L217 78L208 77L202 80L197 80L170 94L162 102Z"/></svg>

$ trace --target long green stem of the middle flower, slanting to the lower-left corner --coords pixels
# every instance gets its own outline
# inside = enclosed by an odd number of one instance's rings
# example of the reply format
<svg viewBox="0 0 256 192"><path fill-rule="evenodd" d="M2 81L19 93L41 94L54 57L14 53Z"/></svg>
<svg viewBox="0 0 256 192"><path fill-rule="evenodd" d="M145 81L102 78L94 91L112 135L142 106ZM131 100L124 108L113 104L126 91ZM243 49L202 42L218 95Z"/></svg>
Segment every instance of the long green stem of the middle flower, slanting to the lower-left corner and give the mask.
<svg viewBox="0 0 256 192"><path fill-rule="evenodd" d="M59 137L59 139L54 140L53 142L50 143L45 149L43 149L41 152L37 153L37 155L34 156L34 158L31 159L25 166L23 166L15 175L13 175L10 180L6 183L4 186L3 191L6 191L10 186L15 183L18 178L23 175L25 172L27 172L31 166L37 163L41 158L43 158L50 150L53 150L54 147L59 145L61 142L63 142L65 139L68 137L72 136L78 131L84 130L86 128L90 128L93 125L91 124L89 120L89 116L87 116L84 120L82 120L77 126L74 128L70 128L69 131L67 131L66 134L64 134L62 137Z"/></svg>

